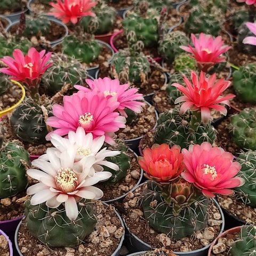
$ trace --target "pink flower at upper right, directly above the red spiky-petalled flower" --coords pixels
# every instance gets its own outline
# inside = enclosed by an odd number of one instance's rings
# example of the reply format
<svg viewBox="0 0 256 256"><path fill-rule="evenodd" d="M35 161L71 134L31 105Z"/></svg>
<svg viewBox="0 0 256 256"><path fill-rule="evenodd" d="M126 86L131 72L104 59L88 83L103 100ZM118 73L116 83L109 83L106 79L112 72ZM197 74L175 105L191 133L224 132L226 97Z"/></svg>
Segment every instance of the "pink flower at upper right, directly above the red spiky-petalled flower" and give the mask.
<svg viewBox="0 0 256 256"><path fill-rule="evenodd" d="M203 71L207 71L216 63L226 61L226 57L221 57L220 55L231 47L223 45L224 41L222 41L221 36L214 38L211 35L201 33L197 39L194 34L191 34L191 40L195 47L191 45L180 47L186 52L193 54L193 58L195 58Z"/></svg>

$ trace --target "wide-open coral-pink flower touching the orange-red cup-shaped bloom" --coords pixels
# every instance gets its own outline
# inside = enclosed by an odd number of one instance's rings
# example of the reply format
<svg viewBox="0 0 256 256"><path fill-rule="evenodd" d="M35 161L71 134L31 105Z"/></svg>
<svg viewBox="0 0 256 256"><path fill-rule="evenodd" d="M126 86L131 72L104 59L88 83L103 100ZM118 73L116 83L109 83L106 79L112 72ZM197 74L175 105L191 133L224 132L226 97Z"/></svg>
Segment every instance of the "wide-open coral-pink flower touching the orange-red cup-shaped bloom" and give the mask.
<svg viewBox="0 0 256 256"><path fill-rule="evenodd" d="M185 172L181 177L202 190L206 197L214 194L233 195L230 188L242 186L244 180L235 177L241 165L233 162L234 156L208 142L182 149Z"/></svg>

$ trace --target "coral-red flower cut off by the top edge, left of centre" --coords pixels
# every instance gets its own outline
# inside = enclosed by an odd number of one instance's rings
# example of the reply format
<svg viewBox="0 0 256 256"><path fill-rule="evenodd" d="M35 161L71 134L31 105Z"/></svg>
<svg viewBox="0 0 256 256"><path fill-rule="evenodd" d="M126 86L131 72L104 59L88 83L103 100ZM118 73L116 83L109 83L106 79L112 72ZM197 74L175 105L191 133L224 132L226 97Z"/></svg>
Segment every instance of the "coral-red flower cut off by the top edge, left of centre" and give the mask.
<svg viewBox="0 0 256 256"><path fill-rule="evenodd" d="M60 19L63 23L71 21L76 24L78 19L85 16L94 17L95 14L91 12L93 6L97 5L97 2L91 2L91 0L57 0L57 4L51 2L50 5L54 8L49 15Z"/></svg>

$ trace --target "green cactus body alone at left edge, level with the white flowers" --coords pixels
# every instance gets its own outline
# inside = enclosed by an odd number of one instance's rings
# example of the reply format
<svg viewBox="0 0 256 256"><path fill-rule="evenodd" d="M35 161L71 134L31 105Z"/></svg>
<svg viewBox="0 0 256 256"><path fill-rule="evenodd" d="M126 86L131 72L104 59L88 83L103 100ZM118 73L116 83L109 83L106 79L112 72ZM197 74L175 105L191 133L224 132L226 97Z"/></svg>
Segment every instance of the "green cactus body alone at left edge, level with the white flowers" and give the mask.
<svg viewBox="0 0 256 256"><path fill-rule="evenodd" d="M26 165L30 165L27 151L15 141L4 142L0 128L0 198L14 196L27 187Z"/></svg>

